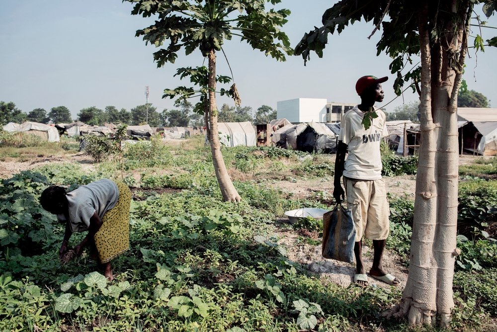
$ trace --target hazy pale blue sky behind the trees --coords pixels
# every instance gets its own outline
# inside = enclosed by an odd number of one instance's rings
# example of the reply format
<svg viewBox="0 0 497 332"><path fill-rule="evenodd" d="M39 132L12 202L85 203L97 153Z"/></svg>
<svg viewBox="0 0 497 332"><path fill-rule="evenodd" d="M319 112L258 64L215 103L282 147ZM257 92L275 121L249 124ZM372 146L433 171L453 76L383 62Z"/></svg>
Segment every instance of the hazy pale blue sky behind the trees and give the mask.
<svg viewBox="0 0 497 332"><path fill-rule="evenodd" d="M321 16L332 3L283 0L277 6L292 11L283 27L292 46L315 25L321 26ZM189 85L173 74L179 67L202 65L203 58L198 52L179 53L176 63L158 69L152 56L156 48L135 37L135 31L153 19L131 15L131 9L131 3L121 0L1 0L0 100L13 101L26 113L64 105L76 118L85 107L114 105L129 110L144 104L148 85L149 102L159 111L174 108L170 99L162 99L163 90ZM496 15L489 25L497 26ZM359 101L355 82L363 75L389 76L383 86L384 103L390 101L395 97L394 75L388 69L391 59L383 54L376 57L380 33L368 40L372 30L372 23L357 22L340 35L330 35L323 59L312 54L306 67L301 57L276 62L245 42L227 41L223 48L242 106L276 109L277 101L299 97L355 103ZM483 33L489 39L497 30L486 28ZM478 55L470 49L470 55L464 77L468 88L482 92L497 107L497 48L488 47ZM231 76L222 53L217 63L218 74ZM386 109L392 111L414 99L409 89ZM219 107L234 104L227 97L217 101Z"/></svg>

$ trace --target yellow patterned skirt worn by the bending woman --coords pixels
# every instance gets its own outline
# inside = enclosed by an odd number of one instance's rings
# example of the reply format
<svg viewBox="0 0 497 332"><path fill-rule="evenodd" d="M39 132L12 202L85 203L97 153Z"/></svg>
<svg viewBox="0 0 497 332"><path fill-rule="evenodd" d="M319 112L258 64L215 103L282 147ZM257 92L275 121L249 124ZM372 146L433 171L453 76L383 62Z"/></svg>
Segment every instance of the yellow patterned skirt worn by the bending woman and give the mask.
<svg viewBox="0 0 497 332"><path fill-rule="evenodd" d="M116 184L119 189L116 206L105 213L102 218L103 224L93 237L100 263L107 263L129 249L131 191L122 182Z"/></svg>

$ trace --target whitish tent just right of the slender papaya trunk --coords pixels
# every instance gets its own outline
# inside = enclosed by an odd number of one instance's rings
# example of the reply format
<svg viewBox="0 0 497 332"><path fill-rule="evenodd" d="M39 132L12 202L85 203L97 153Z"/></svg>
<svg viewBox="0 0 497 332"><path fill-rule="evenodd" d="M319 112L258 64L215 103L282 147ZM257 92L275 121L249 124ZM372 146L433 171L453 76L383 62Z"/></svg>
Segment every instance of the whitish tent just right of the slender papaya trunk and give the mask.
<svg viewBox="0 0 497 332"><path fill-rule="evenodd" d="M250 122L219 122L219 141L227 147L254 147L255 130Z"/></svg>

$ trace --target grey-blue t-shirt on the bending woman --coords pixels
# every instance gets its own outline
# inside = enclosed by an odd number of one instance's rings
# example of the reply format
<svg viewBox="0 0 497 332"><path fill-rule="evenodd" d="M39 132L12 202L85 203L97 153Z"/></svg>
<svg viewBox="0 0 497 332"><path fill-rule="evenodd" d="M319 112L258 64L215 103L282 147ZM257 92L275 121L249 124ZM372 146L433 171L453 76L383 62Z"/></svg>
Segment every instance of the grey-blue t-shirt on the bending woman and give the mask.
<svg viewBox="0 0 497 332"><path fill-rule="evenodd" d="M90 226L90 218L97 213L100 219L112 209L119 199L117 185L109 179L101 179L82 185L66 194L69 203L69 221L73 232L84 232ZM57 215L61 221L64 215Z"/></svg>

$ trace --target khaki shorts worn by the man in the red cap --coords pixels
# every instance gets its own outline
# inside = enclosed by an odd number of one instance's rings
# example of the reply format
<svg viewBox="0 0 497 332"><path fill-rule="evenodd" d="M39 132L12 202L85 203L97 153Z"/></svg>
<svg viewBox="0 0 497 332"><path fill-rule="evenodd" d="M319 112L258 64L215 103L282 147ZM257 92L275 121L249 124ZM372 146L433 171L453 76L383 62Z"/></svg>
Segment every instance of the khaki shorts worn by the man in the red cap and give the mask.
<svg viewBox="0 0 497 332"><path fill-rule="evenodd" d="M347 208L352 210L355 224L355 242L362 237L385 240L390 233L385 180L354 180L343 177Z"/></svg>

